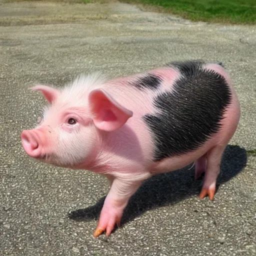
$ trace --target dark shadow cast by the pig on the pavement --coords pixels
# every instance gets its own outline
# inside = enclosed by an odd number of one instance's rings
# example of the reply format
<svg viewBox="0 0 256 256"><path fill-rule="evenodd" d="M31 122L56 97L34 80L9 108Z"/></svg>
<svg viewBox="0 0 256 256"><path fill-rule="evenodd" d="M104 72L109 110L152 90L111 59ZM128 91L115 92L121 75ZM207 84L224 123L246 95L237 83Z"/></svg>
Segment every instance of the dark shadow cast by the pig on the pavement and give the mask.
<svg viewBox="0 0 256 256"><path fill-rule="evenodd" d="M237 145L228 145L220 164L221 172L217 179L216 188L237 175L246 165L246 150ZM121 225L133 220L143 212L169 205L185 197L199 194L203 179L194 180L194 166L158 174L145 180L140 188L130 198L126 206ZM70 219L89 221L98 219L105 196L90 207L77 209L68 213Z"/></svg>

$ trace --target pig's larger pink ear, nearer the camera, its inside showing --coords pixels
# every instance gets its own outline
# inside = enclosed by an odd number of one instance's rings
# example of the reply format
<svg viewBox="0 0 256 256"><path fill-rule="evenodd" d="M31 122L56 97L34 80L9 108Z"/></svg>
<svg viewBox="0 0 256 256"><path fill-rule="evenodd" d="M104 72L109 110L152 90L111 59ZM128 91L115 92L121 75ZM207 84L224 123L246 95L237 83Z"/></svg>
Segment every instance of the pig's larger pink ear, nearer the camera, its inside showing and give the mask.
<svg viewBox="0 0 256 256"><path fill-rule="evenodd" d="M102 89L90 92L89 105L93 114L93 122L101 130L116 130L132 116L132 111L121 106Z"/></svg>

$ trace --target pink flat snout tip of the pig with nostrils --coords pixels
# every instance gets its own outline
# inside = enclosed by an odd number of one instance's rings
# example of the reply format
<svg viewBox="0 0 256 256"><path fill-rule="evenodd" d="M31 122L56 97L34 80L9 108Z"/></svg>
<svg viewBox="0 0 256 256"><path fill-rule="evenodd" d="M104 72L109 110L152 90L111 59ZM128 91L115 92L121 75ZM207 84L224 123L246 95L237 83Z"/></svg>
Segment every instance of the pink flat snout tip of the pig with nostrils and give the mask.
<svg viewBox="0 0 256 256"><path fill-rule="evenodd" d="M25 152L32 157L41 156L40 136L36 130L23 130L21 142Z"/></svg>

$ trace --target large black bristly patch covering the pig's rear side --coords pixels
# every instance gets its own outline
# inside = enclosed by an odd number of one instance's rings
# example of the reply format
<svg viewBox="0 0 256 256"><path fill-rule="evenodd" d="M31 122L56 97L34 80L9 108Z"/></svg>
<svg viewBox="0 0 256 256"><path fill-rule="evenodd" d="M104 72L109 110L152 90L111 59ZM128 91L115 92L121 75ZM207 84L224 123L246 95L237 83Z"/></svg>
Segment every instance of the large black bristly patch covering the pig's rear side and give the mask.
<svg viewBox="0 0 256 256"><path fill-rule="evenodd" d="M160 113L143 116L154 139L154 160L195 150L220 129L231 92L224 77L204 70L202 63L176 63L182 76L174 90L153 102Z"/></svg>

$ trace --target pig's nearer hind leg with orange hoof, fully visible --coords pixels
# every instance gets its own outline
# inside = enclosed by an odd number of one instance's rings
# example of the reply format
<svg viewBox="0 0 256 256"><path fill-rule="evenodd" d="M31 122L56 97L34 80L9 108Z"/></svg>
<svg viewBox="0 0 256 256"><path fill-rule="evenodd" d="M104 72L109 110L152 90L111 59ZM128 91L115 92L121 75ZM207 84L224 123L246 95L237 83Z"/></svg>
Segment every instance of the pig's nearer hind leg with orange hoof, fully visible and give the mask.
<svg viewBox="0 0 256 256"><path fill-rule="evenodd" d="M221 161L221 157L224 149L225 149L225 146L216 145L212 147L205 155L206 169L205 169L202 189L199 195L200 199L208 195L209 198L213 200L215 190L216 190L216 179L220 171L220 161Z"/></svg>

